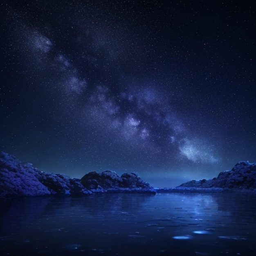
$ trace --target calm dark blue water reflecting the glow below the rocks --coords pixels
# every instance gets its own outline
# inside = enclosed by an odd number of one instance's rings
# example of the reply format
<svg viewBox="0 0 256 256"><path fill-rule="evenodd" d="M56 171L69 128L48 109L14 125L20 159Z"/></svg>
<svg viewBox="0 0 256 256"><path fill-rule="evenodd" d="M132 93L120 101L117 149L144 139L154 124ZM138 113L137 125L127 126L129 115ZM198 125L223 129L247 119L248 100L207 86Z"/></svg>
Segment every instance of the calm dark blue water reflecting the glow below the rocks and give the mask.
<svg viewBox="0 0 256 256"><path fill-rule="evenodd" d="M256 255L256 195L97 194L1 204L0 255Z"/></svg>

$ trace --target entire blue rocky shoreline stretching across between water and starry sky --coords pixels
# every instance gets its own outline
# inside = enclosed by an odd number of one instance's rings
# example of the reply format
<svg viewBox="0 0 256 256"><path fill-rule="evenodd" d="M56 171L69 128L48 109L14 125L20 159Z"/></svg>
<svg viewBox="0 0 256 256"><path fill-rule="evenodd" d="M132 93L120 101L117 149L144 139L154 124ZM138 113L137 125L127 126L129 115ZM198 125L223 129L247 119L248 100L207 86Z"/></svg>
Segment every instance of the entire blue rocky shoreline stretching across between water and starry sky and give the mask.
<svg viewBox="0 0 256 256"><path fill-rule="evenodd" d="M42 195L90 195L99 192L151 193L246 189L256 191L256 164L238 162L211 180L191 180L176 188L153 188L135 173L92 171L81 179L45 173L8 153L0 153L0 198Z"/></svg>

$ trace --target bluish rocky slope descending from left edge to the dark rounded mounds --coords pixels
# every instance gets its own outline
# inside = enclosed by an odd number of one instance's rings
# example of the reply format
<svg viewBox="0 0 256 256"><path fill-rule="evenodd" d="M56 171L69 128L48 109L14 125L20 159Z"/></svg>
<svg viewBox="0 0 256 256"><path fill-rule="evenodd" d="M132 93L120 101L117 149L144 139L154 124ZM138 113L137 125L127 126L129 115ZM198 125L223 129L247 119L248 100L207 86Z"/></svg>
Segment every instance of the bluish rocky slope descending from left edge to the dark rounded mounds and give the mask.
<svg viewBox="0 0 256 256"><path fill-rule="evenodd" d="M0 197L91 193L79 179L45 173L30 163L20 162L13 155L0 153Z"/></svg>

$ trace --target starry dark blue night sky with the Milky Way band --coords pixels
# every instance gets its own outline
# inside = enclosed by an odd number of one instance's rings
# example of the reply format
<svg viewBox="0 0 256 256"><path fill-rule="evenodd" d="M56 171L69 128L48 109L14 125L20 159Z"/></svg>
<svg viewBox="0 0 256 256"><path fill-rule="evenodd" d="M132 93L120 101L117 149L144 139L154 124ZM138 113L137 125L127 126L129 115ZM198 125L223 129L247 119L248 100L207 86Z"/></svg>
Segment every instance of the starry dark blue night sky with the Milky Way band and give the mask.
<svg viewBox="0 0 256 256"><path fill-rule="evenodd" d="M256 2L3 0L0 150L155 187L256 162Z"/></svg>

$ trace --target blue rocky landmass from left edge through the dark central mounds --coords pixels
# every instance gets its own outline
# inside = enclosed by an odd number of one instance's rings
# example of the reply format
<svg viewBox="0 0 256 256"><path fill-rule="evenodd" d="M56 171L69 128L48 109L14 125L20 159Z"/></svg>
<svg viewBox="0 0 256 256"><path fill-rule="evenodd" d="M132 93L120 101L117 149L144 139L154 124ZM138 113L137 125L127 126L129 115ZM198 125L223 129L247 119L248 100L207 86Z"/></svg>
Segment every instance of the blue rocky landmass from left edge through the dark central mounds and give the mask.
<svg viewBox="0 0 256 256"><path fill-rule="evenodd" d="M129 180L130 179L130 180ZM37 195L88 195L93 192L156 193L135 173L121 177L114 171L90 172L83 178L45 173L13 155L0 153L0 197Z"/></svg>

